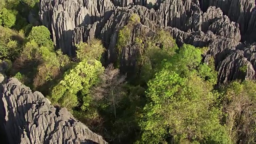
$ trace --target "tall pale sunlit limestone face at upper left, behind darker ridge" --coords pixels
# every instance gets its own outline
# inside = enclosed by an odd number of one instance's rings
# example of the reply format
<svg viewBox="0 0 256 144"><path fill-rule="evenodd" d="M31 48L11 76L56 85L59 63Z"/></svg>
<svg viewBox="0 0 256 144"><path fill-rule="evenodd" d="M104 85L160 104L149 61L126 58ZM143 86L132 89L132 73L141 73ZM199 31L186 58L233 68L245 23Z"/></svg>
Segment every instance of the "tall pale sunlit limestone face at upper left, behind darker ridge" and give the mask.
<svg viewBox="0 0 256 144"><path fill-rule="evenodd" d="M51 30L56 46L70 56L73 30L101 20L114 6L108 0L40 0L39 5L42 24Z"/></svg>

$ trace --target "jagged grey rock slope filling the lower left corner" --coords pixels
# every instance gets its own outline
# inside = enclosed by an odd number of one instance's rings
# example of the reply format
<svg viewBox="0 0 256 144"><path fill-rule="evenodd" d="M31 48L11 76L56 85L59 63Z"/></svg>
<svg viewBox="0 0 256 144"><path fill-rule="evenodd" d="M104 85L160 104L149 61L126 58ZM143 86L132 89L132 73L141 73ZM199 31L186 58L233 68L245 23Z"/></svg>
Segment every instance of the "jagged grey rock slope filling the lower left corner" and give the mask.
<svg viewBox="0 0 256 144"><path fill-rule="evenodd" d="M0 83L2 144L107 144L66 108L54 108L16 78Z"/></svg>

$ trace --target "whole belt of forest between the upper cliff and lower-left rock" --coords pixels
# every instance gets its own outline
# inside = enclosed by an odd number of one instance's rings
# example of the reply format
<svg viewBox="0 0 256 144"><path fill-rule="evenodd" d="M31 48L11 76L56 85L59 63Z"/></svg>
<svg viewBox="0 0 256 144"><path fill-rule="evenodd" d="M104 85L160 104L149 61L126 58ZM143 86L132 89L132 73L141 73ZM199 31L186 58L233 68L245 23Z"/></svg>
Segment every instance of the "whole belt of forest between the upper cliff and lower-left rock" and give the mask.
<svg viewBox="0 0 256 144"><path fill-rule="evenodd" d="M106 65L97 39L76 44L70 58L54 48L48 28L28 24L38 2L0 0L5 73L68 108L111 144L256 142L256 83L218 84L214 59L202 62L207 47L178 48L169 32L148 30L132 14L119 31L113 64ZM136 63L122 69L122 52L130 48Z"/></svg>

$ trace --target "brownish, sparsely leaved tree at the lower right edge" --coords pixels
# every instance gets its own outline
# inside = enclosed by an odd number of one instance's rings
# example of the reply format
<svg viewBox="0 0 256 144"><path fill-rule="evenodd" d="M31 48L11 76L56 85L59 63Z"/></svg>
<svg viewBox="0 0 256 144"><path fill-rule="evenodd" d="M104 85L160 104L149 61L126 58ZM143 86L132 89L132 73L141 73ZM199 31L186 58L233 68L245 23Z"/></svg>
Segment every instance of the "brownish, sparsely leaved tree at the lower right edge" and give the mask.
<svg viewBox="0 0 256 144"><path fill-rule="evenodd" d="M236 87L227 90L223 110L227 114L226 126L232 140L251 144L256 140L256 99L253 93L256 85L248 82L242 86L241 90Z"/></svg>

